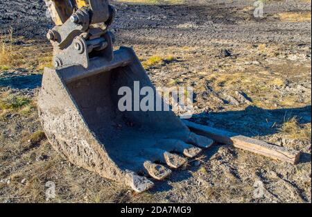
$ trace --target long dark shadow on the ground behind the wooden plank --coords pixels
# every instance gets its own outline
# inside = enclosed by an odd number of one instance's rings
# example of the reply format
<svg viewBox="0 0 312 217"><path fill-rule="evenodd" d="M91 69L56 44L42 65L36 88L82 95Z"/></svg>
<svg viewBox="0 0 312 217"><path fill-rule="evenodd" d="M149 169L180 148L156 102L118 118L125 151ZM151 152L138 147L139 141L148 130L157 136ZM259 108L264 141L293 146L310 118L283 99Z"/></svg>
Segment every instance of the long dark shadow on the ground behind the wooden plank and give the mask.
<svg viewBox="0 0 312 217"><path fill-rule="evenodd" d="M263 137L276 134L283 123L293 118L300 124L311 123L311 105L276 110L265 110L250 105L241 111L194 114L191 121L243 134L246 137Z"/></svg>

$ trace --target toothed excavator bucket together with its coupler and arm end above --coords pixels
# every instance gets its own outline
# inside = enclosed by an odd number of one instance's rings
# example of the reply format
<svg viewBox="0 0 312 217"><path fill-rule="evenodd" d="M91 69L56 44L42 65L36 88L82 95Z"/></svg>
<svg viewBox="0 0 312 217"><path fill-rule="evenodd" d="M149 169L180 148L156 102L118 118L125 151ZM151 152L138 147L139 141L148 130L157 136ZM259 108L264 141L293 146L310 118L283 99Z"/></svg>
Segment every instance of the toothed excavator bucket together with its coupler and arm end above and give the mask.
<svg viewBox="0 0 312 217"><path fill-rule="evenodd" d="M58 153L141 192L153 186L148 177L163 180L213 144L171 110L157 108L164 100L132 49L113 51L107 29L115 10L107 0L45 1L55 22L46 35L55 69L44 69L38 112ZM153 107L138 107L144 97L137 84L152 90ZM124 92L134 99L130 109L120 106Z"/></svg>

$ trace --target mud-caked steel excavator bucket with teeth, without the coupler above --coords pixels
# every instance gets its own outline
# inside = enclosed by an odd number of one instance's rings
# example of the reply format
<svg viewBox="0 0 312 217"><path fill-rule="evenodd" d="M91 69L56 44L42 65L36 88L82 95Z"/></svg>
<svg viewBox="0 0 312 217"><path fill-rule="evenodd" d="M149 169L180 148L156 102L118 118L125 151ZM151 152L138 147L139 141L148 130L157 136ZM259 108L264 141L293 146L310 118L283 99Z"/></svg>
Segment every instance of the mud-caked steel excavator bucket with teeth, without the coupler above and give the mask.
<svg viewBox="0 0 312 217"><path fill-rule="evenodd" d="M190 132L171 110L121 111L119 89L134 93L135 82L155 90L134 51L124 47L111 61L90 60L87 69L46 68L38 110L46 137L71 163L141 192L153 186L148 177L163 180L213 141Z"/></svg>

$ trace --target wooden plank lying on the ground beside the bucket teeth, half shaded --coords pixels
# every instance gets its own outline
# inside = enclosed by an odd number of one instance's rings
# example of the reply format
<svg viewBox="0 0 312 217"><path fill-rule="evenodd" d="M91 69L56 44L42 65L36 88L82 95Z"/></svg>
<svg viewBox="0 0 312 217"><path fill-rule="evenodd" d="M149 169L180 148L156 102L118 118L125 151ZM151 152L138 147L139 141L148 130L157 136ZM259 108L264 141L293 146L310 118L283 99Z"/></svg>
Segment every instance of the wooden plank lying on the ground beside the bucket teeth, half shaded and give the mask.
<svg viewBox="0 0 312 217"><path fill-rule="evenodd" d="M191 121L182 121L189 127L191 131L214 139L214 141L217 141L221 144L229 144L236 148L248 150L252 153L270 157L272 159L279 159L291 164L297 164L297 162L299 162L300 151L290 150L281 146L275 146L259 139L252 139L250 137L227 132L225 130L218 130L209 126L193 123Z"/></svg>

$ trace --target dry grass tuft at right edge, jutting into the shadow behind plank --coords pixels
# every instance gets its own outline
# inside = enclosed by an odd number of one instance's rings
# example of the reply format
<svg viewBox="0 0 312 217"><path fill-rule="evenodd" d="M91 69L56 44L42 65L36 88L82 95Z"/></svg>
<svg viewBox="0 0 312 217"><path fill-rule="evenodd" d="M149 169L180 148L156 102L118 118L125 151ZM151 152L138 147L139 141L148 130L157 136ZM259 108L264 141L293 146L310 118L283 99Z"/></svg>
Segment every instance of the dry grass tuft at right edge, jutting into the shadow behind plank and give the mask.
<svg viewBox="0 0 312 217"><path fill-rule="evenodd" d="M280 128L280 132L287 134L291 139L301 139L311 142L311 123L301 125L295 116L284 122Z"/></svg>

